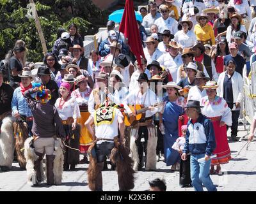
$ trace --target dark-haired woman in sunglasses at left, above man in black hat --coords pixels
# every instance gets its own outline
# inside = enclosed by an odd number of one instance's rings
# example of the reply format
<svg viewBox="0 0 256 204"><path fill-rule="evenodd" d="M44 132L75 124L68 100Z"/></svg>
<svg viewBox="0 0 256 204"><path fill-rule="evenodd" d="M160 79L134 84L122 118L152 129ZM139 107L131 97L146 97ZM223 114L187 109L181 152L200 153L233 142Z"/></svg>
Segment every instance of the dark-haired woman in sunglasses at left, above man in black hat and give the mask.
<svg viewBox="0 0 256 204"><path fill-rule="evenodd" d="M50 68L51 70L51 78L52 80L55 80L58 71L61 68L60 63L58 62L58 59L56 55L54 55L51 52L48 52L44 57L44 64Z"/></svg>

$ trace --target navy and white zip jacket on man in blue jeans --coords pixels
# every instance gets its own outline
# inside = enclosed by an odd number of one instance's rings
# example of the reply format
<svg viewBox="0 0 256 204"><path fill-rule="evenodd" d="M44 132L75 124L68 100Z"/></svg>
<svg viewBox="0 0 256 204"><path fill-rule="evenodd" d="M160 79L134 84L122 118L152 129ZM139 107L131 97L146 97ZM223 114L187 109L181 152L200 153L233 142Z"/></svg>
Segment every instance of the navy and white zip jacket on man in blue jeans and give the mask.
<svg viewBox="0 0 256 204"><path fill-rule="evenodd" d="M190 119L183 152L211 156L215 148L215 134L211 120L202 114L200 114L195 124Z"/></svg>

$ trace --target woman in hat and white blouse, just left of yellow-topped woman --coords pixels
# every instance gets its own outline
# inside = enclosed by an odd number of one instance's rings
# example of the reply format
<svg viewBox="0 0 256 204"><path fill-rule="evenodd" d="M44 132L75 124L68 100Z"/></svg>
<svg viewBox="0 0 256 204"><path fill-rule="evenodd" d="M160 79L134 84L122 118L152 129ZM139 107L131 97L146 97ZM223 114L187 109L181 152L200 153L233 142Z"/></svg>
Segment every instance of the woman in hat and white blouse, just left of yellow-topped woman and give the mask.
<svg viewBox="0 0 256 204"><path fill-rule="evenodd" d="M185 47L193 47L196 42L196 35L191 31L193 22L184 15L180 21L180 25L182 25L182 29L175 33L174 40L181 45L182 49Z"/></svg>

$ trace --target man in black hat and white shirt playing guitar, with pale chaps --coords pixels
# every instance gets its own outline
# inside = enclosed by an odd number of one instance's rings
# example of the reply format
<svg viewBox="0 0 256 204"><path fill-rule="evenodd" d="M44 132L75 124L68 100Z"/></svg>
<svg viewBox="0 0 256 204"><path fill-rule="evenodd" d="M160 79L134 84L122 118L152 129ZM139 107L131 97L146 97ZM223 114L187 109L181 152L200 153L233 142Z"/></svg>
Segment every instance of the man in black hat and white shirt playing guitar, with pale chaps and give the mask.
<svg viewBox="0 0 256 204"><path fill-rule="evenodd" d="M128 105L143 105L145 117L132 124L130 133L130 149L132 150L132 159L134 160L134 170L141 170L143 165L143 152L146 156L145 170L156 170L156 145L157 135L154 126L153 115L158 112L154 105L159 102L156 94L148 89L147 74L141 73L139 78L139 89L130 92L125 98L124 108L129 117L135 117L136 112L132 112Z"/></svg>

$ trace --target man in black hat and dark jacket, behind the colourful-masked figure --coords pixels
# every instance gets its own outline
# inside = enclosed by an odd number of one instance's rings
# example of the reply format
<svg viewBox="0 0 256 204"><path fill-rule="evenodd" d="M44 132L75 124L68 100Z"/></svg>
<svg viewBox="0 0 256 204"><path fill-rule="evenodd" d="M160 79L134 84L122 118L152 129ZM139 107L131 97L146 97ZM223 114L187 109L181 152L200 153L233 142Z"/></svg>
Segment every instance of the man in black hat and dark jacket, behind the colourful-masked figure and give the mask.
<svg viewBox="0 0 256 204"><path fill-rule="evenodd" d="M41 84L45 86L45 89L48 89L51 91L51 100L50 103L51 105L54 106L56 100L59 98L59 87L58 84L54 81L51 80L51 71L49 68L46 66L40 66L38 68L37 72L38 77L41 79Z"/></svg>

